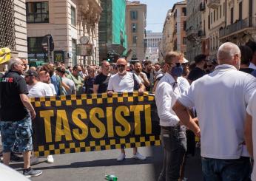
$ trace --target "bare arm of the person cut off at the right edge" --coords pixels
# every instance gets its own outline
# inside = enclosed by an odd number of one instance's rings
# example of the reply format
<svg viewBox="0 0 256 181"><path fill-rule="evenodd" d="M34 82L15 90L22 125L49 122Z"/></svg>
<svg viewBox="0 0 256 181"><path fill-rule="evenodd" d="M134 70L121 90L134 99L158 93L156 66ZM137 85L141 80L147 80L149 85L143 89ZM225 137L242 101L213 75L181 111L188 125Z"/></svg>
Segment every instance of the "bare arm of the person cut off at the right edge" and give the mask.
<svg viewBox="0 0 256 181"><path fill-rule="evenodd" d="M253 157L253 145L252 145L252 116L246 114L246 126L244 130L244 138L246 140L246 147L249 154Z"/></svg>

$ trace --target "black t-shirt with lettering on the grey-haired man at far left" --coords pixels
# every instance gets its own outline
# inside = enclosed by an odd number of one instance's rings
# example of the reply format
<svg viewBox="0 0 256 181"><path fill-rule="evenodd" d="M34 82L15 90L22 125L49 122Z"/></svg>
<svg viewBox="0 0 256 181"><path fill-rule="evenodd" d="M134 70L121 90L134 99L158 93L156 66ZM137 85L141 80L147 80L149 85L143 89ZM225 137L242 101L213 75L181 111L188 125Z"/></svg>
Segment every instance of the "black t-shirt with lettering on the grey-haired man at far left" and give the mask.
<svg viewBox="0 0 256 181"><path fill-rule="evenodd" d="M29 116L21 102L20 94L28 94L27 83L18 72L7 72L0 78L1 109L0 120L18 121Z"/></svg>

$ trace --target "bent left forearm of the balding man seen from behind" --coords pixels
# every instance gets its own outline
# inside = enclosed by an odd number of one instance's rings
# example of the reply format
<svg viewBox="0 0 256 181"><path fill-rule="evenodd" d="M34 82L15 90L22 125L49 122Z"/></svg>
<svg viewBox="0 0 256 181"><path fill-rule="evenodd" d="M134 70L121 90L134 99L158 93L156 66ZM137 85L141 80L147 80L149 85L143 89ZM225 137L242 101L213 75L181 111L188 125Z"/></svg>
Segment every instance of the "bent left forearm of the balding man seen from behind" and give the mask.
<svg viewBox="0 0 256 181"><path fill-rule="evenodd" d="M200 129L199 126L195 123L197 118L192 119L189 115L188 109L183 106L178 100L176 101L175 105L172 107L172 110L176 113L176 115L181 120L181 123L192 130L195 135L200 137Z"/></svg>

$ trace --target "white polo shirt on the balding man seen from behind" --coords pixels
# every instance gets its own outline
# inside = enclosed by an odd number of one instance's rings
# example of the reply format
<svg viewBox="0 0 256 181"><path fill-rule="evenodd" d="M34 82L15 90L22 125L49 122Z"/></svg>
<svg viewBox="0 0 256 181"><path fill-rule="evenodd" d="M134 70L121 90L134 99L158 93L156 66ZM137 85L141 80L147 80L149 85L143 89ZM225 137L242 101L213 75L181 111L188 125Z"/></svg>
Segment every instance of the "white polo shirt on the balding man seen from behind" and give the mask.
<svg viewBox="0 0 256 181"><path fill-rule="evenodd" d="M201 156L215 159L248 157L243 130L246 106L256 89L256 79L232 65L194 81L178 99L197 110L201 129Z"/></svg>

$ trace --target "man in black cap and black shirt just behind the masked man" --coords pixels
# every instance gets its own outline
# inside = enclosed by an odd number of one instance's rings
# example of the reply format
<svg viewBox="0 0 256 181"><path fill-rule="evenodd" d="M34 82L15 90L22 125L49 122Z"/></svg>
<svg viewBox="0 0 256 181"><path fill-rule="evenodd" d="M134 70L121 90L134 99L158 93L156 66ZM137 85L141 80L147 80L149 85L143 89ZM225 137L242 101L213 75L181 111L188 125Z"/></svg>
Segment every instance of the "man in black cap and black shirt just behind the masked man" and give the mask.
<svg viewBox="0 0 256 181"><path fill-rule="evenodd" d="M189 80L189 83L192 83L192 81L197 80L198 78L203 77L203 75L206 75L206 72L204 69L206 68L206 55L197 55L195 57L195 69L192 69L191 72L189 72L189 75L187 79Z"/></svg>

